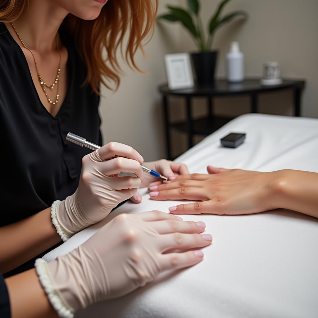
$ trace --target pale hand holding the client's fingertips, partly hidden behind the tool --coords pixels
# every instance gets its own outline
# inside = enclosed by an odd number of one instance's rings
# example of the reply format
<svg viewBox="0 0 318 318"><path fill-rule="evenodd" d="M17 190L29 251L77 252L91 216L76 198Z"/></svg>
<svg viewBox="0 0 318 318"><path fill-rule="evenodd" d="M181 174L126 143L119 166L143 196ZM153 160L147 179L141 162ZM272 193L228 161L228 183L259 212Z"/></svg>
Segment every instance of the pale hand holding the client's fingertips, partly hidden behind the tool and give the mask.
<svg viewBox="0 0 318 318"><path fill-rule="evenodd" d="M189 170L184 163L173 162L166 159L144 162L143 165L149 169L159 172L161 175L167 177L169 181L175 180L176 176L189 174ZM148 173L144 173L140 187L156 186L159 184L162 184L162 179L158 180L158 178L150 176ZM142 201L142 197L137 192L130 198L130 200L134 203L140 203Z"/></svg>

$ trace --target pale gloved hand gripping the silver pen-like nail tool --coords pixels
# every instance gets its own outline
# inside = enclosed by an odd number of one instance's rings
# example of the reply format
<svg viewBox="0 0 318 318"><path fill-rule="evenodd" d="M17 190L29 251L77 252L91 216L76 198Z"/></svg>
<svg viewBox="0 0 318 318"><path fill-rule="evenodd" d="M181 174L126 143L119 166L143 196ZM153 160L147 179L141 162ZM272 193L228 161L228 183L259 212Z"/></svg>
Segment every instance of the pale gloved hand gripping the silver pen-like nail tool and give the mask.
<svg viewBox="0 0 318 318"><path fill-rule="evenodd" d="M135 149L118 142L110 142L84 156L77 190L66 200L52 204L53 224L63 241L99 222L134 195L141 184L142 162ZM136 177L119 177L120 172Z"/></svg>

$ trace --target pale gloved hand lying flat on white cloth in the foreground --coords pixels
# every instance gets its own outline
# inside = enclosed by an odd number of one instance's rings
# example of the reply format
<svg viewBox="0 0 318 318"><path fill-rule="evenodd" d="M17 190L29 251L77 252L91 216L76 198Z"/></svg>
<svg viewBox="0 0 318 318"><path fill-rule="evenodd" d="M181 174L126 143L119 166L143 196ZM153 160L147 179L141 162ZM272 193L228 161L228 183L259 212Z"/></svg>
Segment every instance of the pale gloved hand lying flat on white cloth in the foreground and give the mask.
<svg viewBox="0 0 318 318"><path fill-rule="evenodd" d="M121 214L83 245L36 269L53 307L62 317L97 301L123 296L166 270L200 262L210 245L203 222L183 222L174 215L150 211ZM178 250L179 252L174 252Z"/></svg>

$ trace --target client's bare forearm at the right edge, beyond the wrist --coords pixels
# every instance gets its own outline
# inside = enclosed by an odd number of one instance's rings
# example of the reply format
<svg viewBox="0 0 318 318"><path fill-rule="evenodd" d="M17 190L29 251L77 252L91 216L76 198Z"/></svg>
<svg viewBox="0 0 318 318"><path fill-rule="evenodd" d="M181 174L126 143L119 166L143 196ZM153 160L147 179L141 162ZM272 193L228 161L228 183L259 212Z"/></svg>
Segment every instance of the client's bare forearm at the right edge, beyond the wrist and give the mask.
<svg viewBox="0 0 318 318"><path fill-rule="evenodd" d="M285 208L318 218L318 173L300 170L273 172L271 199L277 208Z"/></svg>

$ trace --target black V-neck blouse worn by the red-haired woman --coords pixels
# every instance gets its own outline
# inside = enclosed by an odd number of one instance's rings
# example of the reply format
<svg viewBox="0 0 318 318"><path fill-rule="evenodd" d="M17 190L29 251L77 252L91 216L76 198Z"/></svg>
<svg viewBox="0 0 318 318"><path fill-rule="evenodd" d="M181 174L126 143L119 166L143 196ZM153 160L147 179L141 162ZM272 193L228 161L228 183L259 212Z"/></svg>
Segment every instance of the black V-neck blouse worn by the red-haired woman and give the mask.
<svg viewBox="0 0 318 318"><path fill-rule="evenodd" d="M59 33L68 51L69 83L59 113L53 117L39 99L24 53L0 23L0 226L27 218L74 193L81 159L90 150L67 142L68 132L102 144L99 96L90 86L82 86L86 66L72 37L61 29Z"/></svg>

